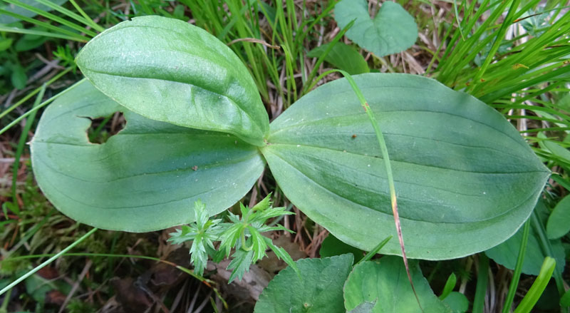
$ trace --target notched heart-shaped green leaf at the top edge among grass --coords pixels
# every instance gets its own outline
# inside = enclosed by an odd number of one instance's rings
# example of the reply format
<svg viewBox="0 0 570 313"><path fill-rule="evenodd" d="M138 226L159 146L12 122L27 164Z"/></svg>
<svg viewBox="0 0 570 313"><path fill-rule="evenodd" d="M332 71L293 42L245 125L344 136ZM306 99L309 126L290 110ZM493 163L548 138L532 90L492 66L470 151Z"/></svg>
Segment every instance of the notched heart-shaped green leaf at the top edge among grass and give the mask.
<svg viewBox="0 0 570 313"><path fill-rule="evenodd" d="M371 19L368 1L342 0L334 7L334 19L341 29L356 19L346 36L376 56L403 51L418 38L414 18L392 1L385 1Z"/></svg>

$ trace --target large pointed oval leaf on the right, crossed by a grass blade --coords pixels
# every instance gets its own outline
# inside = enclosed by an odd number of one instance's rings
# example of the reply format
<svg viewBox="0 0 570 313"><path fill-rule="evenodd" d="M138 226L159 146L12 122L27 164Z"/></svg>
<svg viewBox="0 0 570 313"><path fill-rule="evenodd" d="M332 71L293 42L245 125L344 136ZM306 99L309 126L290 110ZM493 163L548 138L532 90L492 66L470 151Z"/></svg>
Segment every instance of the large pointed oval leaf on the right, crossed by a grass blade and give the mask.
<svg viewBox="0 0 570 313"><path fill-rule="evenodd" d="M383 130L408 257L471 255L507 240L549 177L497 111L430 78L354 76ZM345 79L301 98L261 148L280 188L338 239L371 250L395 234L374 130ZM400 254L398 240L385 254Z"/></svg>

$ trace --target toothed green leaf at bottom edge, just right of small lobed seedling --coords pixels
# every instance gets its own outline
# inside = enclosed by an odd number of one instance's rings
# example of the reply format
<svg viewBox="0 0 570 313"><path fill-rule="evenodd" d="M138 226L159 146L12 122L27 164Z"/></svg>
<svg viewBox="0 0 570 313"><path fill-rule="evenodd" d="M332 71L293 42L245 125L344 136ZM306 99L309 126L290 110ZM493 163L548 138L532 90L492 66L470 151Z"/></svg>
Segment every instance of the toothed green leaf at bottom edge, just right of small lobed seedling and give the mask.
<svg viewBox="0 0 570 313"><path fill-rule="evenodd" d="M344 313L343 284L351 272L353 256L301 259L295 263L301 277L291 267L279 272L259 296L254 312Z"/></svg>

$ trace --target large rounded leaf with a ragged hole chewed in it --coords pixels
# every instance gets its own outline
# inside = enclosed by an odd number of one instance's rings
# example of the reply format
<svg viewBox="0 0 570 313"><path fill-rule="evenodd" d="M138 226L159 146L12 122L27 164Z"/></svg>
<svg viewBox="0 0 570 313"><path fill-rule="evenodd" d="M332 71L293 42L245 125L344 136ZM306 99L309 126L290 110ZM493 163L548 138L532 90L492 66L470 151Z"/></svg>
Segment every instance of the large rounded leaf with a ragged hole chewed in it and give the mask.
<svg viewBox="0 0 570 313"><path fill-rule="evenodd" d="M91 120L122 111L127 126L90 143ZM149 120L83 81L43 113L31 143L38 185L58 210L108 230L145 232L237 202L264 168L256 147L225 134Z"/></svg>

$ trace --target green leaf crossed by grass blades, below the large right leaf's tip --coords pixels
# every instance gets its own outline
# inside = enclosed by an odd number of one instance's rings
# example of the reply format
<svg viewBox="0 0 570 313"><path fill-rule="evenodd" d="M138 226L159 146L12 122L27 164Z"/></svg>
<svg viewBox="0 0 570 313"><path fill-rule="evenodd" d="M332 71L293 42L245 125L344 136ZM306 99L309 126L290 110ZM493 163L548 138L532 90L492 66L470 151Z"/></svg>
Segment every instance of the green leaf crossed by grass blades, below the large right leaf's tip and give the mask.
<svg viewBox="0 0 570 313"><path fill-rule="evenodd" d="M537 210L538 212L546 211L544 202L539 200ZM522 232L523 227L510 237L509 240L485 251L485 254L487 257L492 258L494 262L507 267L509 270L514 270L515 265L517 265L517 257L521 246ZM560 240L550 240L550 245L554 252L554 258L556 259L556 267L558 267L560 272L564 272L564 247L562 247ZM529 240L527 242L527 251L524 255L524 262L522 263L522 272L529 275L538 275L544 257L546 257L546 255L541 247L537 231L534 227L531 227Z"/></svg>

